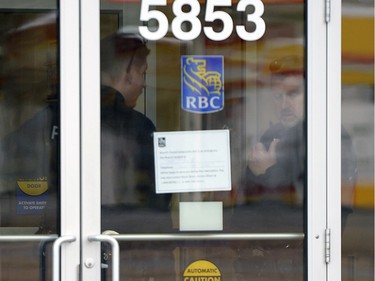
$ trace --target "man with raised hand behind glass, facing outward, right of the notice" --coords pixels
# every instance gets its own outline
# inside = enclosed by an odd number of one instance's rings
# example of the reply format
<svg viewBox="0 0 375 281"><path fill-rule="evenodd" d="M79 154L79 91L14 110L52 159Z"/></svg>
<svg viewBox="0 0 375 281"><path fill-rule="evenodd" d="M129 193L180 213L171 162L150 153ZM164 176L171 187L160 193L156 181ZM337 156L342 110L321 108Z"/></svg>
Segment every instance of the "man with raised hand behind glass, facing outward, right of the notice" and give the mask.
<svg viewBox="0 0 375 281"><path fill-rule="evenodd" d="M298 219L294 216L285 216L283 210L303 205L303 53L283 56L272 61L269 71L271 106L276 112L277 119L250 149L244 179L245 200L250 206L260 204L259 214L255 214L256 216L269 212L269 218L263 224L269 224L268 231L275 228L280 231L280 227L295 225L297 228L294 231L302 232L302 210ZM297 209L290 211L298 213ZM280 226L276 227L276 221L279 221Z"/></svg>

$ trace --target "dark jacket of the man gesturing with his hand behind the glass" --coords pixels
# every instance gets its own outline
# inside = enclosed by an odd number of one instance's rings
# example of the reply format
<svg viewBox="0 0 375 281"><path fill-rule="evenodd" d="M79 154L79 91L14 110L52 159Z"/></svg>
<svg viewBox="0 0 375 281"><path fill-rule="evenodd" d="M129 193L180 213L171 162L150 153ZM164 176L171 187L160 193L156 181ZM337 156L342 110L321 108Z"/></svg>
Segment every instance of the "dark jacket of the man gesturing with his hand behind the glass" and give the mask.
<svg viewBox="0 0 375 281"><path fill-rule="evenodd" d="M269 149L278 139L276 164L263 175L256 176L250 169L245 178L245 192L249 200L271 199L285 203L301 204L303 194L305 145L301 123L285 128L281 123L269 128L260 142ZM298 202L297 202L298 201Z"/></svg>

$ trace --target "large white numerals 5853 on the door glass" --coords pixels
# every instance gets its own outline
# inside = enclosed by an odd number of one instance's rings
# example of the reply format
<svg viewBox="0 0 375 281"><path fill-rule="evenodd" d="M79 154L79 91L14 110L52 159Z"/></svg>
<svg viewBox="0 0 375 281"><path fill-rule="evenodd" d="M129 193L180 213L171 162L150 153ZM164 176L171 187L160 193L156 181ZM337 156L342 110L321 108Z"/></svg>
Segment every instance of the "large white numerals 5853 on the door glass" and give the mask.
<svg viewBox="0 0 375 281"><path fill-rule="evenodd" d="M163 38L169 29L167 16L159 10L151 10L151 6L166 6L167 0L143 0L141 4L140 20L148 22L155 20L158 27L150 30L147 26L140 26L139 32L148 40L159 40ZM189 6L189 11L183 11L184 6ZM205 11L205 22L212 23L215 20L222 22L222 29L215 31L210 26L204 26L203 32L207 38L214 41L227 39L233 32L234 24L231 16L225 11L217 11L216 7L231 7L232 0L207 0ZM240 0L237 4L238 12L245 12L248 6L253 6L254 11L246 15L246 22L252 22L255 29L247 31L244 25L235 26L238 36L245 41L255 41L260 39L266 31L266 24L262 18L264 5L261 0ZM198 18L201 5L198 0L175 0L172 5L175 17L171 23L173 35L180 40L193 40L202 32L202 24ZM191 28L183 30L183 23L190 22Z"/></svg>

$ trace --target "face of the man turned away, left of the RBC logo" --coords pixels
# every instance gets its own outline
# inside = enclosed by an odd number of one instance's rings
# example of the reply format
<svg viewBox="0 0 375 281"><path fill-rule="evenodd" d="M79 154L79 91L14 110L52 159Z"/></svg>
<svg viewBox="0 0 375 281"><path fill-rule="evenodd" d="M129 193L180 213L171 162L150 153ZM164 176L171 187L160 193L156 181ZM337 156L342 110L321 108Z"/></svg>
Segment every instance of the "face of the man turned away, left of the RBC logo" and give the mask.
<svg viewBox="0 0 375 281"><path fill-rule="evenodd" d="M139 96L145 87L145 74L147 70L147 63L140 68L133 65L130 68L129 76L126 81L127 87L124 92L125 103L127 106L134 108L137 104Z"/></svg>

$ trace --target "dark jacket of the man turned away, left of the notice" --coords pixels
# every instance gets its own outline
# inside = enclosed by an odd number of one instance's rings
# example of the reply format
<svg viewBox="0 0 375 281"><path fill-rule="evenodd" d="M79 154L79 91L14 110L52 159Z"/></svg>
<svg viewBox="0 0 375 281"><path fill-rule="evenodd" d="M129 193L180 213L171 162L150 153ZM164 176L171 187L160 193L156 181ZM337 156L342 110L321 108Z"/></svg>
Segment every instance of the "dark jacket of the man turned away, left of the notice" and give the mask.
<svg viewBox="0 0 375 281"><path fill-rule="evenodd" d="M153 133L145 115L125 105L120 93L102 87L102 204L152 205Z"/></svg>

